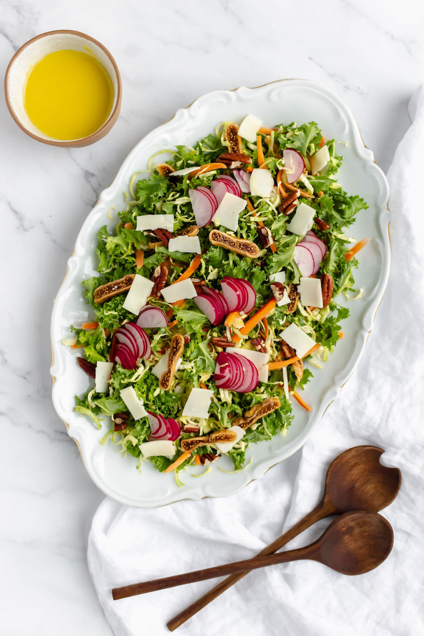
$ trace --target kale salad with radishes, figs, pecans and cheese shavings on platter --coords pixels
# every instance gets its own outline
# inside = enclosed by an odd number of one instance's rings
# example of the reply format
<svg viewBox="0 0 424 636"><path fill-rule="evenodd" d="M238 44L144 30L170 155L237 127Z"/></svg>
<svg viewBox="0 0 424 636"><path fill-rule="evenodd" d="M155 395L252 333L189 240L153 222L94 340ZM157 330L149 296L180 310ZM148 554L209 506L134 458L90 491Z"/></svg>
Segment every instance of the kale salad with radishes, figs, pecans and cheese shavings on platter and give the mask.
<svg viewBox="0 0 424 636"><path fill-rule="evenodd" d="M299 391L343 336L335 298L367 242L345 235L368 206L336 180L337 143L249 114L132 177L83 281L95 318L64 341L93 378L75 410L111 422L101 443L179 481L224 454L242 470L294 401L311 410Z"/></svg>

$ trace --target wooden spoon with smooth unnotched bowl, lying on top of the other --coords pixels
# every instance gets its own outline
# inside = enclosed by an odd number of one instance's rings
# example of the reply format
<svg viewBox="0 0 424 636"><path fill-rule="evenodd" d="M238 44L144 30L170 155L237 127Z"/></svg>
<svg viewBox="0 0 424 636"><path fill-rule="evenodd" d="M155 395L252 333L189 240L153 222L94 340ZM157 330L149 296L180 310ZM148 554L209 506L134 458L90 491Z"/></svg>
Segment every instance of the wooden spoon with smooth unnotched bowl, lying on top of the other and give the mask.
<svg viewBox="0 0 424 636"><path fill-rule="evenodd" d="M195 583L226 574L236 574L267 567L276 563L287 563L309 559L324 563L341 574L364 574L383 563L393 546L392 526L378 513L364 510L344 513L330 523L317 541L304 548L278 552L272 555L254 556L251 559L207 567L195 572L167 576L163 579L135 583L112 590L113 598L127 598L176 585Z"/></svg>

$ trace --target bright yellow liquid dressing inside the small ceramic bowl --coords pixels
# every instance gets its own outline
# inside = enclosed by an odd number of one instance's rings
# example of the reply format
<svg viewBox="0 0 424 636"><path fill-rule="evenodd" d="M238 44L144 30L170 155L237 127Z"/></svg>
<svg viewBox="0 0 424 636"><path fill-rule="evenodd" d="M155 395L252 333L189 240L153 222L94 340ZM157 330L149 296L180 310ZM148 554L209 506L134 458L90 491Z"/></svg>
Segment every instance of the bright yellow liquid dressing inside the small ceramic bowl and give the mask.
<svg viewBox="0 0 424 636"><path fill-rule="evenodd" d="M111 113L114 91L100 62L81 51L48 53L32 68L24 88L30 120L53 139L93 134Z"/></svg>

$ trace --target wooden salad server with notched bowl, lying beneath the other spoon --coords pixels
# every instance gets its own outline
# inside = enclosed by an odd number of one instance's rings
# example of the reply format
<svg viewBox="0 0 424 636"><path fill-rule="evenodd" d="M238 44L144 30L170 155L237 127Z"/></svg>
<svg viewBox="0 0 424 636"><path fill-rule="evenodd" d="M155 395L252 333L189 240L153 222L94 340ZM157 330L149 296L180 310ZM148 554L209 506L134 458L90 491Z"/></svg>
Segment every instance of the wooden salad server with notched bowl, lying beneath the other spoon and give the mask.
<svg viewBox="0 0 424 636"><path fill-rule="evenodd" d="M388 468L380 464L383 452L383 449L377 446L354 446L338 455L327 470L324 495L318 506L291 530L266 546L257 556L270 555L280 550L313 523L327 516L340 515L350 510L378 512L391 504L399 492L400 471L398 468ZM249 571L247 569L245 572L232 574L215 585L212 590L172 618L168 622L168 629L173 632L214 598L240 581Z"/></svg>

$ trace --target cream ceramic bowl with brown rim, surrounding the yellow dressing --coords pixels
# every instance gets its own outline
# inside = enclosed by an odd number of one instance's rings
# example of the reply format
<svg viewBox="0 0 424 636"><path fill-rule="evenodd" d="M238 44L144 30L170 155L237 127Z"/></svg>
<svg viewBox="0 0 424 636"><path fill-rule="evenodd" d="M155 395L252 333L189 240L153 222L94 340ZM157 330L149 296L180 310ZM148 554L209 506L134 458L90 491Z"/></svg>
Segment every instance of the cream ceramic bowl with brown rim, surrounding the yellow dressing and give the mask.
<svg viewBox="0 0 424 636"><path fill-rule="evenodd" d="M114 91L111 113L102 127L88 137L72 139L71 141L61 141L44 135L41 130L34 126L24 108L24 87L29 71L48 53L64 49L81 52L86 52L88 49L92 52L109 73ZM49 31L32 38L13 55L4 78L6 103L13 119L32 139L42 141L44 144L51 144L51 146L88 146L102 139L118 119L121 109L121 92L120 72L111 53L100 42L79 31Z"/></svg>

